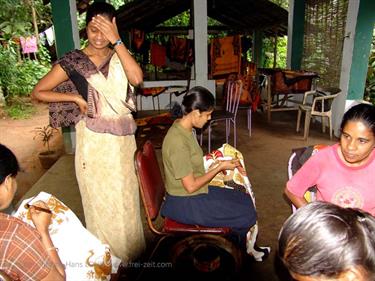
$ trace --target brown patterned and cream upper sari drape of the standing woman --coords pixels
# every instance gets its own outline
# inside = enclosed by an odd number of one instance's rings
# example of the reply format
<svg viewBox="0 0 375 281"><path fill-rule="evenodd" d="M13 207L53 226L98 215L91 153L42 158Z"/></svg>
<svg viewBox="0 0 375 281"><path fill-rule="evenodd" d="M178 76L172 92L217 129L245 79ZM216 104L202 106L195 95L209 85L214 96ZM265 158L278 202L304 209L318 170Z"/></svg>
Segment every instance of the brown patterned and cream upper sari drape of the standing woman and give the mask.
<svg viewBox="0 0 375 281"><path fill-rule="evenodd" d="M130 113L136 108L135 96L116 53L112 52L99 68L81 50L68 52L56 63L70 80L54 91L80 94L87 101L88 110L82 116L75 103L51 103L53 127L74 125L85 119L89 129L98 133L134 134L136 125ZM111 107L111 116L103 114L104 110L108 114L105 107Z"/></svg>

